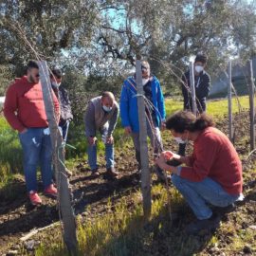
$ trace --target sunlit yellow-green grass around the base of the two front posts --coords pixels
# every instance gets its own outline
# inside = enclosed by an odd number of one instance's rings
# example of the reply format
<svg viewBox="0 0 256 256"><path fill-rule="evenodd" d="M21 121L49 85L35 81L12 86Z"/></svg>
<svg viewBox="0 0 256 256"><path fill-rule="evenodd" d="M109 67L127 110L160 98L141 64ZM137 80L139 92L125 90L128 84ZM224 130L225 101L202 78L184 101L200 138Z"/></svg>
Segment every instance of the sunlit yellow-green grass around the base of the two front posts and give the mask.
<svg viewBox="0 0 256 256"><path fill-rule="evenodd" d="M172 207L179 207L183 199L175 192ZM153 243L155 234L164 227L170 227L168 208L166 206L167 192L161 185L152 189L155 198L152 205L152 216L149 222L143 219L140 192L134 193L127 199L123 197L115 206L109 200L106 211L102 217L93 220L78 220L79 255L145 255L147 246ZM128 201L129 200L129 201ZM128 207L128 205L132 207ZM113 207L115 210L113 210ZM60 239L60 238L59 238ZM184 250L192 252L187 243L191 241L179 238ZM181 249L180 247L178 248ZM143 252L144 250L144 252ZM176 251L175 255L185 255L184 251ZM68 255L61 240L51 244L41 244L36 250L36 256Z"/></svg>

